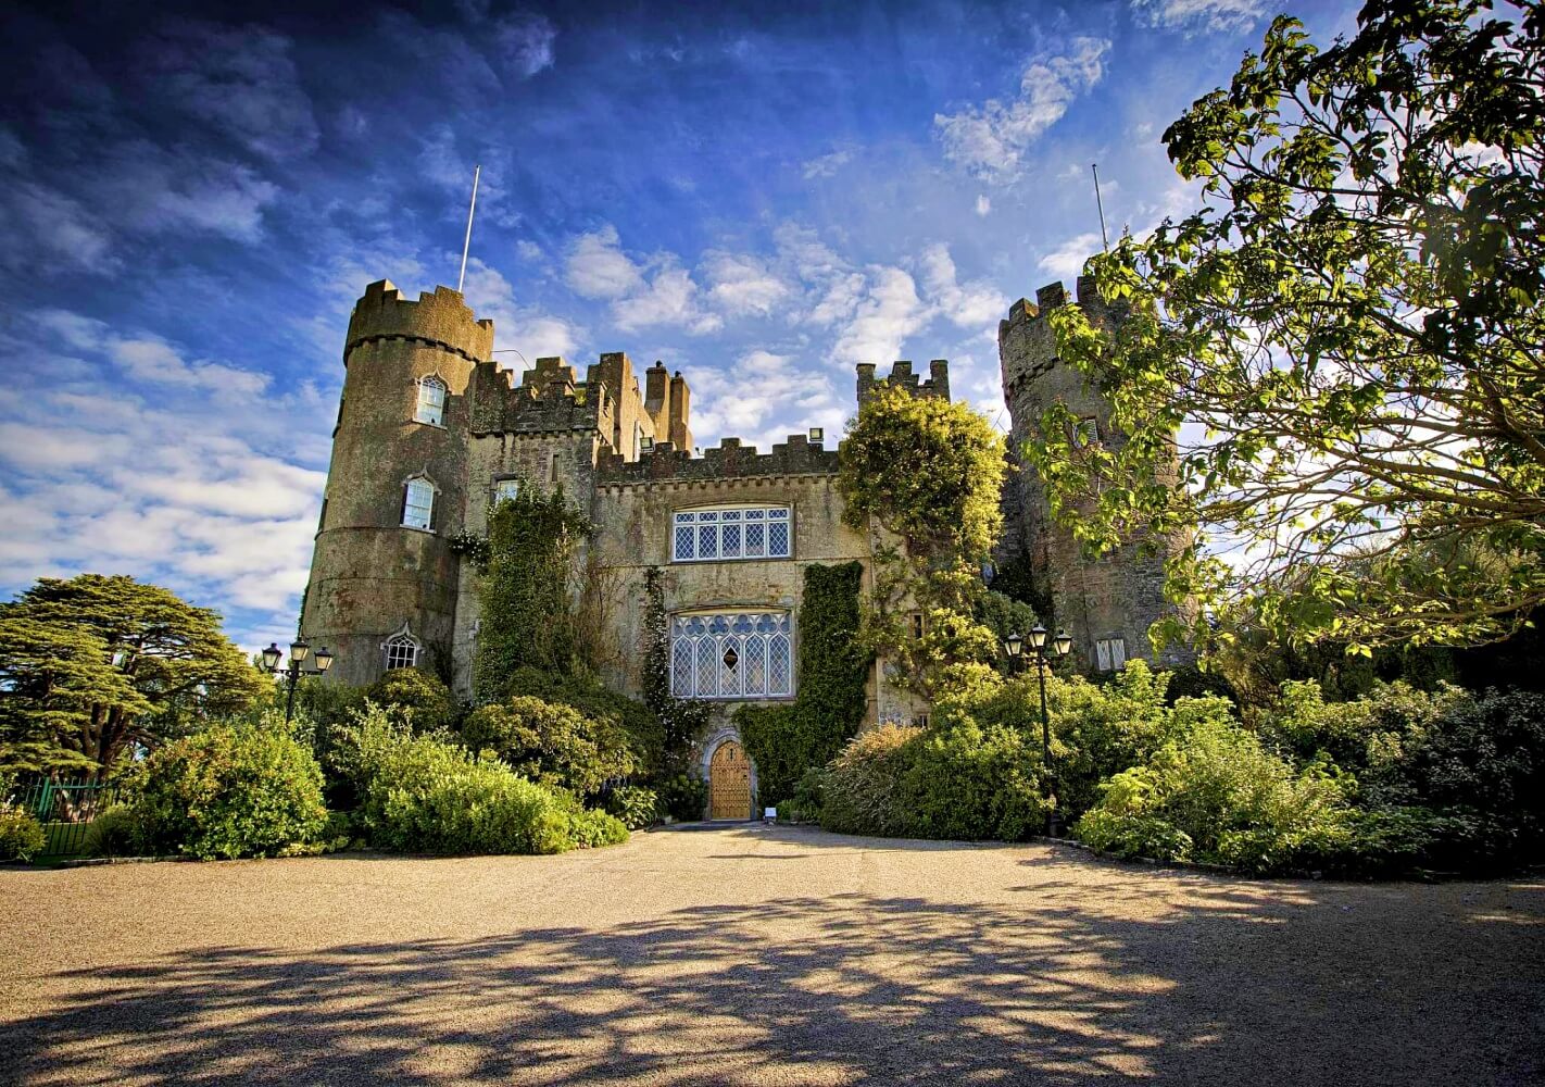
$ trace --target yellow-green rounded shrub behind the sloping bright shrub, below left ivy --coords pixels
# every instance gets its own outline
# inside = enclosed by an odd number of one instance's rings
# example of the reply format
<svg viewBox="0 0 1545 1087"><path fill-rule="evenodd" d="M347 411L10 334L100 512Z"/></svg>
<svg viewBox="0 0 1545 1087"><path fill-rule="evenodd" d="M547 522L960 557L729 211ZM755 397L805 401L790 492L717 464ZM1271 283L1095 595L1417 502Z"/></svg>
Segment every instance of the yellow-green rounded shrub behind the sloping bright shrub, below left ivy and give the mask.
<svg viewBox="0 0 1545 1087"><path fill-rule="evenodd" d="M522 778L581 796L633 772L627 733L615 721L524 694L474 710L460 734L470 750L493 751Z"/></svg>

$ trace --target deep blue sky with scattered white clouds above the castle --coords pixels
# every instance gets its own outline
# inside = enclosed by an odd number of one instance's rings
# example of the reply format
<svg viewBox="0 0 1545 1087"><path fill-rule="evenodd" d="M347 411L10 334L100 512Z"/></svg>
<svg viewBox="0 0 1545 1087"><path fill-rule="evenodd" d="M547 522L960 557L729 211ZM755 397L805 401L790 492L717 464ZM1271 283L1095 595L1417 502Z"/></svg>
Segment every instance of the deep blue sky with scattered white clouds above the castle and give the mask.
<svg viewBox="0 0 1545 1087"><path fill-rule="evenodd" d="M1098 244L1089 162L1112 235L1188 210L1159 136L1276 14L324 8L0 15L0 588L133 574L289 637L349 308L454 285L477 162L497 349L661 359L701 445L839 430L857 362L947 357L998 417L998 320Z"/></svg>

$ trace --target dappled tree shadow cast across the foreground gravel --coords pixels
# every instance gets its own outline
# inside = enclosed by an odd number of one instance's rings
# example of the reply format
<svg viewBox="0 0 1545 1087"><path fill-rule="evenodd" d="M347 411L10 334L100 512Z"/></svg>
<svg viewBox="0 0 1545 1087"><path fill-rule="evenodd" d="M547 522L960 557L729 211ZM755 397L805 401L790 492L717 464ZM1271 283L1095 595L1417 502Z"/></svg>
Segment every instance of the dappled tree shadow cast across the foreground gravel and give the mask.
<svg viewBox="0 0 1545 1087"><path fill-rule="evenodd" d="M995 905L845 894L593 931L306 952L232 946L82 971L74 1004L0 1025L0 1078L1545 1078L1545 948L1533 908L1514 918L1440 911L1394 889L1381 898L1333 884L1143 880L1119 867L1092 894L1083 858L1054 854L1037 867L1041 881ZM1517 888L1523 895L1537 888ZM1174 905L1156 909L1156 897ZM1370 903L1387 939L1374 939L1358 912Z"/></svg>

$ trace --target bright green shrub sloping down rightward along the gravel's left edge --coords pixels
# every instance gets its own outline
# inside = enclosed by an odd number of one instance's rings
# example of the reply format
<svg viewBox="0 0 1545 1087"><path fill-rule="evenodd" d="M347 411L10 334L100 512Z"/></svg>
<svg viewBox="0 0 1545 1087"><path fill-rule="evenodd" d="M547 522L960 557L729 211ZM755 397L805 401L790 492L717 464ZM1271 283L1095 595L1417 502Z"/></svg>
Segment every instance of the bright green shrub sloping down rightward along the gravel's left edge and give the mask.
<svg viewBox="0 0 1545 1087"><path fill-rule="evenodd" d="M372 844L423 854L559 854L626 841L604 812L542 789L497 761L406 736L374 711L357 725L362 820Z"/></svg>

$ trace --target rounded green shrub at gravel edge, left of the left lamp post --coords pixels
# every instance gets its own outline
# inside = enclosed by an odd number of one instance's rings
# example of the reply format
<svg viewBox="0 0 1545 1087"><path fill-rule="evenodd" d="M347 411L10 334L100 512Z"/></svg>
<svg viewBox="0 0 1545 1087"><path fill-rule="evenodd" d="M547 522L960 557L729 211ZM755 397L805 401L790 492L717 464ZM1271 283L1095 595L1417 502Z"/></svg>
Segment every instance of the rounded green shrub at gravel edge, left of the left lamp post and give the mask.
<svg viewBox="0 0 1545 1087"><path fill-rule="evenodd" d="M156 855L272 857L324 826L321 767L290 736L218 725L145 761L134 818Z"/></svg>

